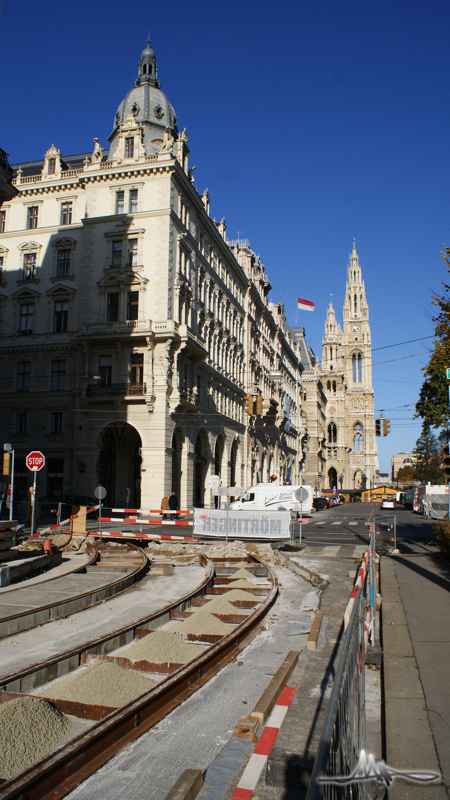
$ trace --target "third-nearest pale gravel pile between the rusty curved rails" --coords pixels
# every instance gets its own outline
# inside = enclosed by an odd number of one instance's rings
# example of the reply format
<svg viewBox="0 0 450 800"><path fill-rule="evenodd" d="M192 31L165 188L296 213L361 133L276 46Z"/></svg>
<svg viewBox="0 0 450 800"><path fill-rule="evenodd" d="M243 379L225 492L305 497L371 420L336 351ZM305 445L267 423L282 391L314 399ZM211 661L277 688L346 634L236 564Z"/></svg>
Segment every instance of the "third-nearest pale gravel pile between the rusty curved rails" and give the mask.
<svg viewBox="0 0 450 800"><path fill-rule="evenodd" d="M206 650L204 645L190 644L170 631L154 631L120 651L132 661L154 661L157 664L187 664Z"/></svg>

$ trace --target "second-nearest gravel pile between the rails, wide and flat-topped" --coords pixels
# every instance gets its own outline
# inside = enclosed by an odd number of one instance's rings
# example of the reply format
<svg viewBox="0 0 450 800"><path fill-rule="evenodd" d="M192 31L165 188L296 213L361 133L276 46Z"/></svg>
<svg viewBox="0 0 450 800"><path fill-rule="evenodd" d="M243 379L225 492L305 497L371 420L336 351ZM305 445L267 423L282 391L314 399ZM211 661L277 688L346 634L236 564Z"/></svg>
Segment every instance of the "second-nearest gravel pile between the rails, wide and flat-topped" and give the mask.
<svg viewBox="0 0 450 800"><path fill-rule="evenodd" d="M47 689L41 688L40 693L59 700L120 708L155 684L156 681L141 672L101 661L77 670Z"/></svg>

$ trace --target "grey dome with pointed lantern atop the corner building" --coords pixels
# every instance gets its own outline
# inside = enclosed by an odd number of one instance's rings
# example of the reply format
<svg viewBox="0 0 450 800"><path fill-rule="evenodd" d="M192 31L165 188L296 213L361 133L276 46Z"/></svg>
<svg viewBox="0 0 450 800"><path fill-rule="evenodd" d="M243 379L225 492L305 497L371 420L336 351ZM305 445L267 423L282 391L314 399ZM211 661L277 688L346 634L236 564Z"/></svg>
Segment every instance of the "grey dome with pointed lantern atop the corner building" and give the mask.
<svg viewBox="0 0 450 800"><path fill-rule="evenodd" d="M175 138L178 135L175 111L160 89L156 56L150 47L150 39L141 53L134 88L128 92L116 111L113 132L109 137L109 160L116 150L120 126L130 117L142 125L144 148L148 156L159 152L166 128L172 129Z"/></svg>

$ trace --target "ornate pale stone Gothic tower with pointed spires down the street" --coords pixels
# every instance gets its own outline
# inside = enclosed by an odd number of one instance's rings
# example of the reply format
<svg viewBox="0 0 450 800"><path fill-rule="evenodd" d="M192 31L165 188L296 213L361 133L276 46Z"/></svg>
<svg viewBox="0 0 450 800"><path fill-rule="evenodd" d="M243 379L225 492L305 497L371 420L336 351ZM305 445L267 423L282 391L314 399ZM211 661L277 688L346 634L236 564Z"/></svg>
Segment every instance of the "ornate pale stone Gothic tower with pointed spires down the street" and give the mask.
<svg viewBox="0 0 450 800"><path fill-rule="evenodd" d="M343 325L330 301L322 339L328 490L369 489L377 469L369 307L353 239Z"/></svg>

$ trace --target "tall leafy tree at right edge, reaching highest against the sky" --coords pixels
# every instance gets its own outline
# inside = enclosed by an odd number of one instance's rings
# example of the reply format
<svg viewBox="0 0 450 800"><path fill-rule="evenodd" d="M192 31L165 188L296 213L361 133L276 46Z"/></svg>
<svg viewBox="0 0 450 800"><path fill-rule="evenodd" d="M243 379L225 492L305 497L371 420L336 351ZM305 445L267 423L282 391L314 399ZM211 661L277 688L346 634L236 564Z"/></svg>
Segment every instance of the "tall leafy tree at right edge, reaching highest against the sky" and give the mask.
<svg viewBox="0 0 450 800"><path fill-rule="evenodd" d="M445 245L444 245L445 247ZM450 247L441 251L445 269L450 273ZM434 350L423 372L425 380L416 403L416 416L422 417L424 430L447 427L449 420L449 396L445 374L450 367L450 286L442 282L442 296L432 295L431 305L438 312L433 316L435 323Z"/></svg>

